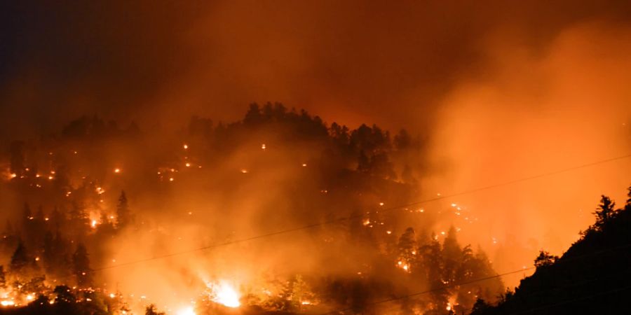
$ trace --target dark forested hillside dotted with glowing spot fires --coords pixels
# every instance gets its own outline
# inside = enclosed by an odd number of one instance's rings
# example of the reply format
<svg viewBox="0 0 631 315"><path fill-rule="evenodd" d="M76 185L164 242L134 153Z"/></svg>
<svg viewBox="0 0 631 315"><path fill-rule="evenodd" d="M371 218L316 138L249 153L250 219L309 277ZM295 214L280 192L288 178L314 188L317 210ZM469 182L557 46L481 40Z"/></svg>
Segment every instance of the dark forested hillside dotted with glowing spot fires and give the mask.
<svg viewBox="0 0 631 315"><path fill-rule="evenodd" d="M396 300L398 312L460 313L473 307L477 297L494 302L503 291L487 256L480 248L461 246L455 228L435 235L429 232L433 221L418 220L418 213L384 216L372 211L384 202L404 204L419 195L421 136L406 130L393 136L376 125L327 125L306 111L269 103L252 104L243 120L230 124L191 118L182 132L156 136L165 139L158 139L155 149L142 144L156 141L148 134L135 125L121 128L83 117L46 141L11 145L6 157L11 176L0 185L23 203L9 209L14 215L2 231L0 250L11 260L1 269L0 284L22 298L41 295L22 300L29 307L15 314L121 314L127 307L124 299L105 295L95 284L98 274L93 268L110 264L112 255L103 244L145 224L147 216L134 207L135 194L150 192L160 200L169 185L197 174L212 180L214 172L190 170L223 169L224 160L240 151L247 154L239 160L243 172L227 169L229 175L215 188L226 199L243 182L243 174L257 168L287 163L278 169L298 174L283 188L290 196L283 197L289 210L283 212L276 204L260 206L269 208L257 221L261 230L278 230L279 222L299 226L349 215L358 218L318 230L312 244L313 251L323 253L322 265L340 262L355 269L328 274L323 268L320 273L271 279L269 285L278 294L265 300L243 297L252 314L310 311L311 304L303 302L315 301L350 308L355 314L379 314L374 300L419 290L431 294ZM280 153L273 155L275 151ZM117 178L121 173L125 176ZM125 191L104 193L101 185L107 181L116 181ZM365 218L357 216L367 210ZM418 222L414 226L412 218ZM212 228L221 235L225 227ZM459 284L482 277L491 278ZM151 307L147 312L159 314Z"/></svg>

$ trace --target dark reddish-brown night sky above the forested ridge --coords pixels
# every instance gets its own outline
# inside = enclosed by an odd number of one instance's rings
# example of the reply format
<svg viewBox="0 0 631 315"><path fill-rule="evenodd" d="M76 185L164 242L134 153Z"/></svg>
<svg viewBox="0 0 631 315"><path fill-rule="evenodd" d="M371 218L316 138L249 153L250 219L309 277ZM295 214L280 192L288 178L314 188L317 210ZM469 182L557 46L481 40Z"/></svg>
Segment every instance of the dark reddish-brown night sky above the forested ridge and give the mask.
<svg viewBox="0 0 631 315"><path fill-rule="evenodd" d="M494 75L489 38L545 55L564 29L631 17L629 1L396 2L3 1L0 134L84 113L232 120L268 100L414 128L455 85Z"/></svg>

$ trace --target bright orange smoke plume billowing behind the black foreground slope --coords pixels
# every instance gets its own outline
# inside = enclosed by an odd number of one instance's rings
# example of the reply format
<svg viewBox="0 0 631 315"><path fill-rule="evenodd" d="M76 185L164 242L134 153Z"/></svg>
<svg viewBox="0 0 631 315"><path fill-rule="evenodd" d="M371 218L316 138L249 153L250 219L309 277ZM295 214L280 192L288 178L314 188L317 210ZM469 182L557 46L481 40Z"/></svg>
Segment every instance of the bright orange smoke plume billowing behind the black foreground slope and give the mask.
<svg viewBox="0 0 631 315"><path fill-rule="evenodd" d="M543 52L491 37L493 75L442 103L431 155L446 171L427 187L461 192L631 153L630 34L586 23ZM539 249L561 253L592 222L599 195L624 200L627 174L629 160L616 160L458 199L480 217L470 235L497 248L501 272Z"/></svg>

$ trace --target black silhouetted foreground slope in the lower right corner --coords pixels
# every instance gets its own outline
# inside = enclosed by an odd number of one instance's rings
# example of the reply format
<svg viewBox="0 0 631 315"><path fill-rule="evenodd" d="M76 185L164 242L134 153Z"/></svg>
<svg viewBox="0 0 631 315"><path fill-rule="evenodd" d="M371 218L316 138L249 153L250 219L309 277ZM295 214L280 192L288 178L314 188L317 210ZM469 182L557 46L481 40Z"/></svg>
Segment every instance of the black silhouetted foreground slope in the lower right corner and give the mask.
<svg viewBox="0 0 631 315"><path fill-rule="evenodd" d="M620 209L602 196L595 216L562 257L542 251L514 293L472 314L631 314L631 188Z"/></svg>

